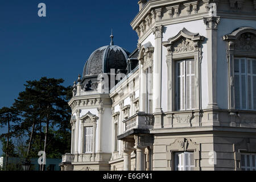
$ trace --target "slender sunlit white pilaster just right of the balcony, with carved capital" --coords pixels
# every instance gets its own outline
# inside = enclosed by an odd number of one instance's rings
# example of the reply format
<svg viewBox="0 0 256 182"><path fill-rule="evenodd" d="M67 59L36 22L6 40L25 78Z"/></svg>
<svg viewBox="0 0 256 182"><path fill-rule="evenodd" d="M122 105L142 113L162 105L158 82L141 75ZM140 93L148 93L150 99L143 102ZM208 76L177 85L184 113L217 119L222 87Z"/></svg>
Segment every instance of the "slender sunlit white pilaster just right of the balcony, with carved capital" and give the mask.
<svg viewBox="0 0 256 182"><path fill-rule="evenodd" d="M162 113L161 91L162 91L162 31L163 26L153 28L155 35L155 56L153 60L153 112Z"/></svg>

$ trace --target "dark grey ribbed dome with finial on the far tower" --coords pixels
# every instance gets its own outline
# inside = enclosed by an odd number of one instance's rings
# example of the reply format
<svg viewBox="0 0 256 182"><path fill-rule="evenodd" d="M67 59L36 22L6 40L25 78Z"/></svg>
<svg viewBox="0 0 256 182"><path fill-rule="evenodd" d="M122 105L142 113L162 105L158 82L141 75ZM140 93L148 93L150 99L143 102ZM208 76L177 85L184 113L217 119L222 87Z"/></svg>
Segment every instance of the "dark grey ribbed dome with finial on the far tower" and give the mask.
<svg viewBox="0 0 256 182"><path fill-rule="evenodd" d="M110 73L110 69L126 69L127 59L130 54L125 49L114 46L113 35L110 46L103 46L94 51L84 66L83 76Z"/></svg>

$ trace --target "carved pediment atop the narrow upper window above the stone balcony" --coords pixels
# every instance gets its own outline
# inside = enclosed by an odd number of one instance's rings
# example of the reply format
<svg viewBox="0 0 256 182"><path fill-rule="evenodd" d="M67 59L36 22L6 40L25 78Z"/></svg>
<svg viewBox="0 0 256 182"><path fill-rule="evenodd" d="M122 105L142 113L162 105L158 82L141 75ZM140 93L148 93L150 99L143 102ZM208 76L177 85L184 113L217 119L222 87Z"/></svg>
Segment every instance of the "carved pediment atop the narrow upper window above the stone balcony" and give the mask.
<svg viewBox="0 0 256 182"><path fill-rule="evenodd" d="M144 44L141 47L141 49L139 51L138 60L140 60L141 64L143 64L143 69L152 67L153 55L154 55L154 47L152 47L152 44L150 42Z"/></svg>

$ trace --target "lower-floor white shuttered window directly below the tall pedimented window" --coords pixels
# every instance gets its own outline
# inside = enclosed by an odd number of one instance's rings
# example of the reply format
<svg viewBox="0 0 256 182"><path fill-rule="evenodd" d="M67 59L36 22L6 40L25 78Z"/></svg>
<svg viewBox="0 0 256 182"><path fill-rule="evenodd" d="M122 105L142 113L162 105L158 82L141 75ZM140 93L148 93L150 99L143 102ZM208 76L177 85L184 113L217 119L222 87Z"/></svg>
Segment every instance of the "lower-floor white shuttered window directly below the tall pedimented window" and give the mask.
<svg viewBox="0 0 256 182"><path fill-rule="evenodd" d="M195 167L193 152L176 152L174 157L175 171L193 171Z"/></svg>

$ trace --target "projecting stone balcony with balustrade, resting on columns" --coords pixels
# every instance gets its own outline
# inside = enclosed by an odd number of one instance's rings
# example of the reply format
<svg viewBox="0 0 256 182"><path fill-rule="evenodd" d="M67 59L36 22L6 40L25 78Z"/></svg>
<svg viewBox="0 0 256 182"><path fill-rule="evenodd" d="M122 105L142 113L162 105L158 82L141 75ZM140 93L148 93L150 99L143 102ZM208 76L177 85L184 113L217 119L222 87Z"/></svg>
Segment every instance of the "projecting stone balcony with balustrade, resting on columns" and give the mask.
<svg viewBox="0 0 256 182"><path fill-rule="evenodd" d="M123 124L124 133L118 139L130 138L133 134L149 134L149 130L154 128L154 115L138 112L125 119Z"/></svg>

